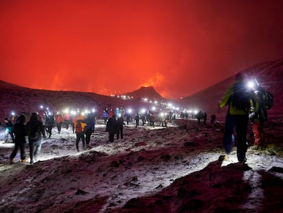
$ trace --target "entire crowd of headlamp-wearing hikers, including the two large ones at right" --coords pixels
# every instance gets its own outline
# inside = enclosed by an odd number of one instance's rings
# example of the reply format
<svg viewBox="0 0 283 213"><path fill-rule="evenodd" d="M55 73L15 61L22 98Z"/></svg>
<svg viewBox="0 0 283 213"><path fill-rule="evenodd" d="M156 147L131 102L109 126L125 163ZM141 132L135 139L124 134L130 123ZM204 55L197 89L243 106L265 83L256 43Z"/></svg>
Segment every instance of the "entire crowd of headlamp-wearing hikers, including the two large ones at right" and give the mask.
<svg viewBox="0 0 283 213"><path fill-rule="evenodd" d="M256 82L257 83L257 82ZM242 91L243 90L243 91ZM240 91L240 92L239 92ZM237 97L239 96L239 97ZM269 103L266 101L269 98ZM259 84L254 88L247 88L244 76L239 73L236 77L236 82L226 90L223 99L219 102L219 108L228 105L228 112L226 114L225 130L224 130L224 150L226 153L232 151L232 147L237 143L237 158L239 162L245 162L247 151L247 125L248 121L252 121L252 131L254 133L254 146L252 149L258 147L266 147L265 134L263 131L264 123L267 121L267 110L273 105L272 95L265 91ZM187 112L180 112L180 118L189 118ZM201 110L195 114L191 114L193 119L196 119L198 125L206 126L207 114ZM123 126L135 121L135 126L149 125L154 127L157 123L159 126L167 127L167 123L172 123L176 120L176 113L170 111L168 113L159 113L158 116L150 110L142 112L137 110L135 115L131 111L126 112L124 108L116 108L116 110L105 108L103 110L103 120L106 126L105 131L109 133L109 142L114 142L116 139L124 138ZM211 115L211 125L215 125L216 116ZM26 162L25 143L26 136L29 142L29 158L30 163L33 163L33 158L36 158L40 152L42 138L51 138L53 128L57 127L57 132L60 134L62 126L66 129L72 128L72 132L76 134L76 149L79 151L79 142L82 142L82 149L90 148L90 138L94 133L96 124L96 114L88 113L86 116L77 114L62 114L57 112L49 114L47 112L33 112L27 122L27 116L21 114L14 116L10 121L8 118L5 122L5 142L10 136L12 142L15 143L14 150L10 155L10 163L14 162L14 158L18 149L21 151L21 161Z"/></svg>

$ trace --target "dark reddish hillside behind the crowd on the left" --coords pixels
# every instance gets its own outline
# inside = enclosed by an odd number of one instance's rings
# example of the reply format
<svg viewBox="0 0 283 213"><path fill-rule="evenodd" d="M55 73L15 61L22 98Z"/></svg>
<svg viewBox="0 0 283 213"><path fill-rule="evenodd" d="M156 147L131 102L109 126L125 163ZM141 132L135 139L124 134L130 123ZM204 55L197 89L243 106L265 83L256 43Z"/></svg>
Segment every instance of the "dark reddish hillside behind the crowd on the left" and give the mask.
<svg viewBox="0 0 283 213"><path fill-rule="evenodd" d="M29 114L38 111L40 105L54 112L66 108L70 110L94 108L102 114L105 107L115 109L124 105L137 105L136 102L133 99L122 100L90 92L36 90L0 81L0 105L5 106L0 111L1 121L10 116L11 112Z"/></svg>

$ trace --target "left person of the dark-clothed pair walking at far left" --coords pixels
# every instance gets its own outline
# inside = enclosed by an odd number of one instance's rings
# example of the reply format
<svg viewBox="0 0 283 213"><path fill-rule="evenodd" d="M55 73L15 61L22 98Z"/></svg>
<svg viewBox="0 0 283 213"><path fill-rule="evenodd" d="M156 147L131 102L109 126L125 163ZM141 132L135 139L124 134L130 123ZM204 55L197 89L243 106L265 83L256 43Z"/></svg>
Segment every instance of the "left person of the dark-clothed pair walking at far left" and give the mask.
<svg viewBox="0 0 283 213"><path fill-rule="evenodd" d="M16 157L16 153L18 152L18 148L21 151L21 162L26 162L25 160L25 136L26 136L26 129L25 129L25 122L27 118L24 114L18 116L17 123L14 125L14 134L15 134L15 147L10 155L10 164L14 162L14 158Z"/></svg>

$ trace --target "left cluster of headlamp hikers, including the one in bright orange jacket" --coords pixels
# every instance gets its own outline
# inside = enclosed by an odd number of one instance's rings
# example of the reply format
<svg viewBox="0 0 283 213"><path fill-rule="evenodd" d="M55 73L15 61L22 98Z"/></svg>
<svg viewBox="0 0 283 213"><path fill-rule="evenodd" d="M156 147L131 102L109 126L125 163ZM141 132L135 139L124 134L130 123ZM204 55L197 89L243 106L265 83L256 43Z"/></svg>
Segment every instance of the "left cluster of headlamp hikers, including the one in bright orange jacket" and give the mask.
<svg viewBox="0 0 283 213"><path fill-rule="evenodd" d="M90 138L94 132L95 120L93 114L87 114L85 118L82 115L70 116L70 114L63 115L61 113L53 115L46 112L33 112L29 121L27 121L25 114L14 116L12 121L5 118L5 142L8 142L8 136L10 136L15 144L10 155L10 164L14 162L18 149L21 151L21 162L26 162L25 144L27 140L30 163L33 164L33 159L40 153L42 138L51 138L54 127L57 127L57 132L60 134L62 125L65 125L66 129L72 127L73 133L77 136L77 151L79 151L80 140L82 140L83 149L90 148Z"/></svg>

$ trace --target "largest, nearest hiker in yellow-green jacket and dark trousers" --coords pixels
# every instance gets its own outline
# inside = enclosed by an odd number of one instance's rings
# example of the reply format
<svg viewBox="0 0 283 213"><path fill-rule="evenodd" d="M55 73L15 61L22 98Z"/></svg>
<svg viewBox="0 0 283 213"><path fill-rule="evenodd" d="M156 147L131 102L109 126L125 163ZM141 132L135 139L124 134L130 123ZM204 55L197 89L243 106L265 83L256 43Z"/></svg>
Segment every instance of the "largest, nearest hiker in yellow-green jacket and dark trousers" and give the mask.
<svg viewBox="0 0 283 213"><path fill-rule="evenodd" d="M251 89L247 88L242 73L236 75L236 82L224 93L219 108L228 105L224 130L224 149L227 154L232 151L234 131L237 132L237 159L241 163L246 162L247 152L247 124L249 121L250 101L255 103L255 112L258 111L258 102Z"/></svg>

